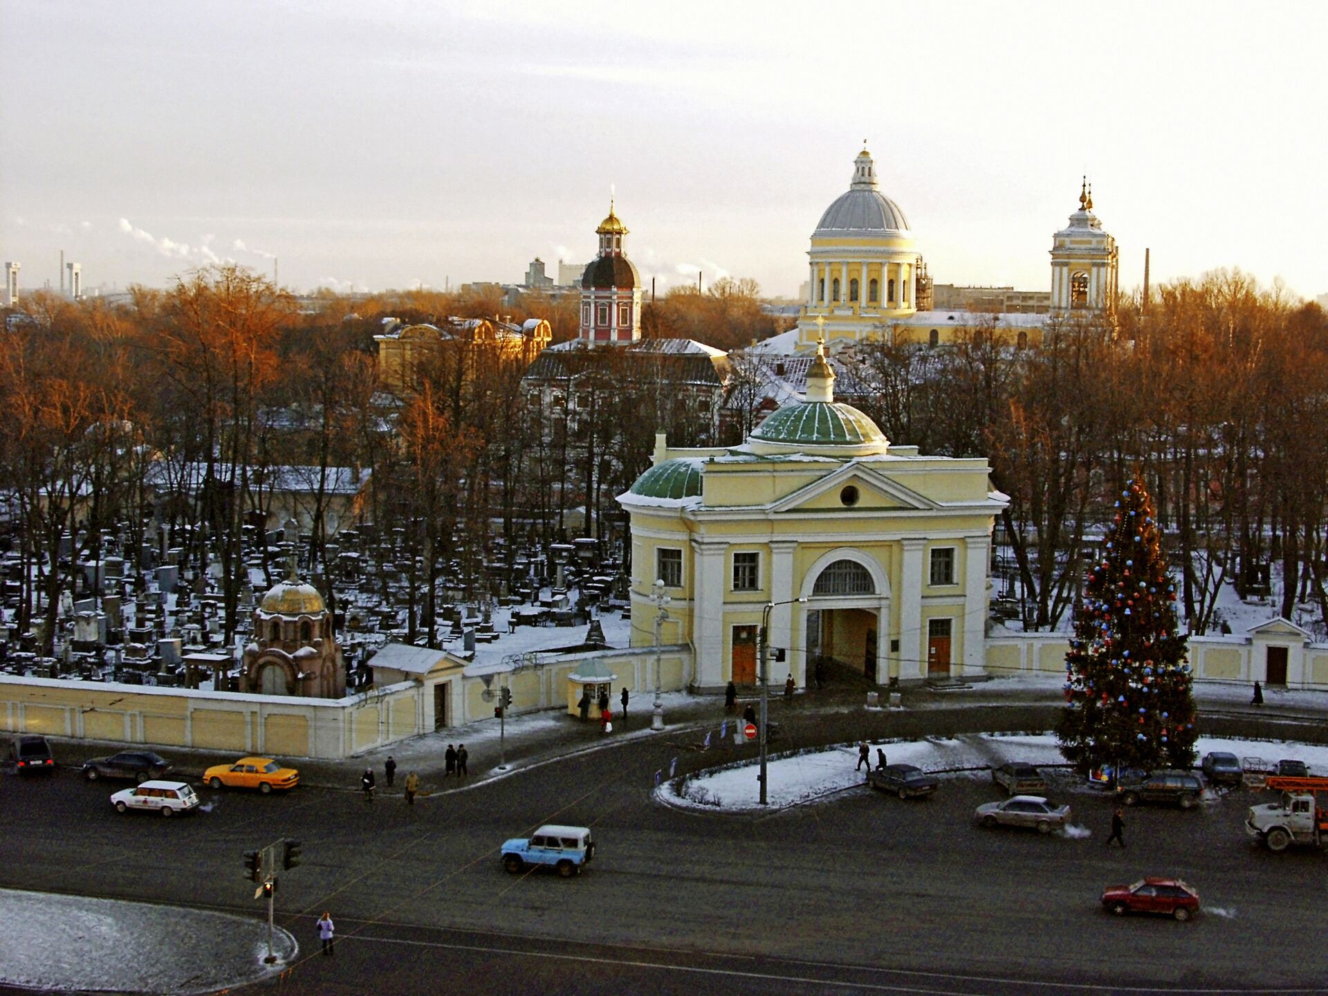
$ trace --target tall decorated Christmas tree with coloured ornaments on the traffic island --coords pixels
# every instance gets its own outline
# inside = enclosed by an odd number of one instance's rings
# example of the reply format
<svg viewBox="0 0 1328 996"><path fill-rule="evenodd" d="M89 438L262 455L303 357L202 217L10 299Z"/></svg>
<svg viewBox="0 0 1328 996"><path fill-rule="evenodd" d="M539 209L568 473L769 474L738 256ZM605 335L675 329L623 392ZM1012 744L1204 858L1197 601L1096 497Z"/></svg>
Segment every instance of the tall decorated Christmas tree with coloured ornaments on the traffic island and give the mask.
<svg viewBox="0 0 1328 996"><path fill-rule="evenodd" d="M1102 559L1085 578L1065 655L1061 753L1080 770L1190 768L1194 697L1175 584L1143 483L1116 501Z"/></svg>

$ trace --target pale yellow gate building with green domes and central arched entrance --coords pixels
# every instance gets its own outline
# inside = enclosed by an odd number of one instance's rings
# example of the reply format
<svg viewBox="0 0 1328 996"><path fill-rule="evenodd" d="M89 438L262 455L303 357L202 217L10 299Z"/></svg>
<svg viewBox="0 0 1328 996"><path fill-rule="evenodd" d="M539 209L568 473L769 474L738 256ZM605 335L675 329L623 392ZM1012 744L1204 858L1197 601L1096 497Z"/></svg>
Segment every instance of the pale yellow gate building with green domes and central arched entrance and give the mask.
<svg viewBox="0 0 1328 996"><path fill-rule="evenodd" d="M776 685L817 660L876 684L984 672L991 533L1008 498L981 458L895 446L834 400L817 345L806 398L740 445L671 449L618 501L631 519L633 645L653 641L656 580L671 598L661 643L689 645L688 684L753 684L770 610Z"/></svg>

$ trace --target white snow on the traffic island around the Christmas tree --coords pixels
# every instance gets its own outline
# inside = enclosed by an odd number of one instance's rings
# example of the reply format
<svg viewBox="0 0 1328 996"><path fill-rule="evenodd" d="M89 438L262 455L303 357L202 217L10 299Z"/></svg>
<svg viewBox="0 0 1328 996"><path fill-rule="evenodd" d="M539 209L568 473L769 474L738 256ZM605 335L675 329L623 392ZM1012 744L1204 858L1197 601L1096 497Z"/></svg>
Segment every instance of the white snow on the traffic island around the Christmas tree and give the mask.
<svg viewBox="0 0 1328 996"><path fill-rule="evenodd" d="M1029 761L1037 765L1065 762L1056 746L1056 737L1050 733L979 733L956 738L872 741L870 746L872 764L876 762L876 748L880 748L890 764L911 764L926 772L948 773L948 777L987 778L989 766L1007 761ZM1328 746L1317 744L1199 737L1195 746L1199 757L1210 750L1224 750L1236 757L1262 757L1271 762L1295 757L1308 764L1311 772L1328 774ZM665 782L656 789L656 798L668 805L712 813L798 806L825 801L863 785L865 777L861 770L855 770L857 762L858 749L851 745L770 760L769 805L765 807L760 803L756 761L692 776L681 784Z"/></svg>

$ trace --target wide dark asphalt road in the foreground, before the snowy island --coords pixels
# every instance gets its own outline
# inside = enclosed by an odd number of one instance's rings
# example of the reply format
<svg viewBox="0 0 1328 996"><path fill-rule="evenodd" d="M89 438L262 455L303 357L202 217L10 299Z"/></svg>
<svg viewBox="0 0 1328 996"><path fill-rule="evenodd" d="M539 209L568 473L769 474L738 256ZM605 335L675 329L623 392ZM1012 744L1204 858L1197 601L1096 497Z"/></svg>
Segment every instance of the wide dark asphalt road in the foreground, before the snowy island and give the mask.
<svg viewBox="0 0 1328 996"><path fill-rule="evenodd" d="M174 819L117 814L114 784L68 769L4 776L0 886L260 916L242 853L301 838L278 892L301 960L255 992L1328 992L1328 857L1254 847L1251 793L1126 810L1118 851L1104 847L1112 801L1068 782L1050 794L1085 839L975 827L973 807L1000 795L967 776L907 802L863 788L758 818L679 811L649 797L673 754L623 744L413 809L202 789L210 811ZM592 866L505 874L501 842L550 821L595 829ZM1105 884L1145 874L1187 879L1204 912L1101 910ZM335 957L317 954L323 910Z"/></svg>

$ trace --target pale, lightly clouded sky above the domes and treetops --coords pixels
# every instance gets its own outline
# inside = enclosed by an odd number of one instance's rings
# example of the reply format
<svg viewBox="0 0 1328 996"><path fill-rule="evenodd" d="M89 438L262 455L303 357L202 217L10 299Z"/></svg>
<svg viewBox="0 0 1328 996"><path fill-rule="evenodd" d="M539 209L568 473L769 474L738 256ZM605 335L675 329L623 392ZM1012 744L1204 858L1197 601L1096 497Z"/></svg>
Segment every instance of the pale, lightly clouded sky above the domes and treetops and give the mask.
<svg viewBox="0 0 1328 996"><path fill-rule="evenodd" d="M20 284L518 283L610 198L659 290L794 296L866 141L936 283L1046 290L1080 178L1121 287L1328 292L1328 4L0 0Z"/></svg>

